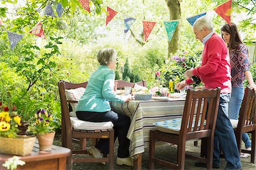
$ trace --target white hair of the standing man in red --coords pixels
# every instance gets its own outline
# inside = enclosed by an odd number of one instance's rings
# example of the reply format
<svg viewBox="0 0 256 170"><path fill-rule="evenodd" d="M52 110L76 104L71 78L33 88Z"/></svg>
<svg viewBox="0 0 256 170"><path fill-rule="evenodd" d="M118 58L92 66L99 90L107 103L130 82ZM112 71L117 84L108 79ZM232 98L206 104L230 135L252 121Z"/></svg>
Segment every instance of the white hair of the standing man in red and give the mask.
<svg viewBox="0 0 256 170"><path fill-rule="evenodd" d="M212 24L212 19L210 19L206 15L201 16L200 18L197 18L197 20L193 24L193 28L196 28L199 31L202 31L204 27L208 28L209 31L213 31L213 29L214 29L213 24Z"/></svg>

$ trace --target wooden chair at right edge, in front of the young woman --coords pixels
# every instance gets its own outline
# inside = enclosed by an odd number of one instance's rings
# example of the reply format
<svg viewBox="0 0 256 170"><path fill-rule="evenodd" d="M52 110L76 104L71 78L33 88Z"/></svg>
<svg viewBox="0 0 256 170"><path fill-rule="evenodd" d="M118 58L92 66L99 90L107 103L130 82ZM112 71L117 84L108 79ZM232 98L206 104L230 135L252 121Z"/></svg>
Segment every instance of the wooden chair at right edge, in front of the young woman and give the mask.
<svg viewBox="0 0 256 170"><path fill-rule="evenodd" d="M256 152L256 141L255 141L255 127L256 127L256 109L255 109L255 93L249 87L245 88L245 95L243 96L243 101L240 109L240 116L238 120L230 120L233 127L235 128L235 134L237 139L238 150L241 154L245 152L251 154L251 163L255 164L255 152ZM242 150L242 134L251 134L251 151Z"/></svg>

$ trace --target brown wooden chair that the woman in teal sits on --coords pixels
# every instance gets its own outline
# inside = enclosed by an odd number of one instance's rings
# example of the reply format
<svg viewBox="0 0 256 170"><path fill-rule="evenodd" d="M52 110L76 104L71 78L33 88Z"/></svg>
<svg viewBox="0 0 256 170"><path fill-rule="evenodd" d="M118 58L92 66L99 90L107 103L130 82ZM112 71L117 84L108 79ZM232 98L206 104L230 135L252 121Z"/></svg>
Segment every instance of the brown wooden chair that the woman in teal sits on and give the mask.
<svg viewBox="0 0 256 170"><path fill-rule="evenodd" d="M114 130L79 130L72 127L69 111L71 109L69 103L77 103L77 100L67 100L65 90L79 87L86 87L88 82L84 83L69 83L64 80L59 81L59 93L61 101L61 138L62 145L71 150L71 155L87 154L85 147L80 150L75 150L72 147L72 139L80 139L81 143L88 138L100 139L109 138L109 158L67 158L68 169L72 169L73 163L100 163L108 162L109 169L114 169Z"/></svg>

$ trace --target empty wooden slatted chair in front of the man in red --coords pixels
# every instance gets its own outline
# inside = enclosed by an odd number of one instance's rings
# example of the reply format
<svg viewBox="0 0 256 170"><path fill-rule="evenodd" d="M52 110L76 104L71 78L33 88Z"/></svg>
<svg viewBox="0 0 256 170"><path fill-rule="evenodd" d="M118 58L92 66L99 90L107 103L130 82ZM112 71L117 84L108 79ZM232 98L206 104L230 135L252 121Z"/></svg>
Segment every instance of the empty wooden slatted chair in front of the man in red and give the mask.
<svg viewBox="0 0 256 170"><path fill-rule="evenodd" d="M166 133L159 130L150 131L149 168L154 169L154 163L158 163L172 169L184 169L186 156L186 158L205 162L207 163L207 169L212 169L214 130L219 101L220 88L200 91L188 90L180 130L176 131L176 133L171 131L170 133ZM207 159L185 154L186 141L202 138L207 139L209 143ZM177 145L176 163L155 158L155 141L164 141Z"/></svg>

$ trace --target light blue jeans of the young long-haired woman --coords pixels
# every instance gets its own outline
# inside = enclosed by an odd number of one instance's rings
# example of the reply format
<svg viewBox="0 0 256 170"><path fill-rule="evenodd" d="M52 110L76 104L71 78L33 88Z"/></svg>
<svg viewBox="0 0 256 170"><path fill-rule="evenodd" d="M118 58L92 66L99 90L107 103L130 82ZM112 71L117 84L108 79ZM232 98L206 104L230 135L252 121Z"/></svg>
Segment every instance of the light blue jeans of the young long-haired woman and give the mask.
<svg viewBox="0 0 256 170"><path fill-rule="evenodd" d="M229 101L229 118L238 119L241 103L245 90L243 87L232 87L232 94ZM242 134L242 140L245 142L245 147L251 147L251 140L247 133Z"/></svg>

